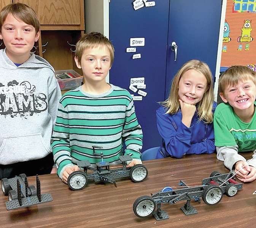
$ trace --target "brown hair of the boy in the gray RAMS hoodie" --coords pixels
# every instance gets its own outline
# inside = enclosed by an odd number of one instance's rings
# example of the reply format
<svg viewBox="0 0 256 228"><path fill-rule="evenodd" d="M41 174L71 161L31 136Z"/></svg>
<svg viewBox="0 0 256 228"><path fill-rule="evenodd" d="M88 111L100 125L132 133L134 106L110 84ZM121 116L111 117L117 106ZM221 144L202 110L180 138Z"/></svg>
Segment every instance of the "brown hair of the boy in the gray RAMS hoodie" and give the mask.
<svg viewBox="0 0 256 228"><path fill-rule="evenodd" d="M28 25L32 25L35 28L36 34L40 30L40 23L36 12L28 5L14 3L5 6L0 12L0 32L2 32L2 25L8 14L12 14L16 19L22 20Z"/></svg>

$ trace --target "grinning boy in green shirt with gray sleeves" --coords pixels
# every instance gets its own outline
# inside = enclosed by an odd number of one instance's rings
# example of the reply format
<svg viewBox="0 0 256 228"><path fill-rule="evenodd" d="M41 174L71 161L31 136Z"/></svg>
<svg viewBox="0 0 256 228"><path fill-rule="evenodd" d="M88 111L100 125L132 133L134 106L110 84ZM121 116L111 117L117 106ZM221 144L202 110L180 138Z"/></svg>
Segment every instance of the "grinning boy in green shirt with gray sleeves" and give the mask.
<svg viewBox="0 0 256 228"><path fill-rule="evenodd" d="M256 179L256 73L245 66L232 66L219 79L219 91L224 103L214 114L217 158L237 172L240 181ZM254 151L246 159L239 152ZM248 163L247 163L248 162Z"/></svg>

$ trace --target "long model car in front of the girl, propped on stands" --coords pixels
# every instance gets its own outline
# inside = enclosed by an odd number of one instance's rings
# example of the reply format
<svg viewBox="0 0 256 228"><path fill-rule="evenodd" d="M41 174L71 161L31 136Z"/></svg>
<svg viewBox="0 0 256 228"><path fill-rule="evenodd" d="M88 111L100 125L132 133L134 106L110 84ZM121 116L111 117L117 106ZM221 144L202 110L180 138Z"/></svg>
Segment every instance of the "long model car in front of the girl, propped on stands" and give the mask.
<svg viewBox="0 0 256 228"><path fill-rule="evenodd" d="M200 203L200 197L207 205L216 205L219 203L225 193L229 197L233 197L242 189L243 184L238 183L232 178L233 173L229 172L221 174L218 171L211 173L209 178L202 180L201 186L187 186L184 181L180 181L179 187L175 190L172 187L165 187L156 194L143 195L135 200L133 210L136 216L143 218L153 214L155 219L164 220L169 219L168 214L161 210L161 203L169 203L172 205L177 201L187 200L181 210L184 214L196 214L197 210L190 205L191 199ZM157 209L156 209L157 208ZM156 209L156 211L154 211Z"/></svg>

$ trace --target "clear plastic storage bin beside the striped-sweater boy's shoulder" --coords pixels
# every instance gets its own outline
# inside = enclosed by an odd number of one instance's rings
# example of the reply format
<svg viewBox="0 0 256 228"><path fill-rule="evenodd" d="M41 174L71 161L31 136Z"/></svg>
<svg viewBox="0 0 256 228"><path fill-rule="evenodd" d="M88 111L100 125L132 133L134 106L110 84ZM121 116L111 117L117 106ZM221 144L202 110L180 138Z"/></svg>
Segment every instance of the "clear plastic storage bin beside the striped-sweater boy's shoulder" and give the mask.
<svg viewBox="0 0 256 228"><path fill-rule="evenodd" d="M57 75L61 75L63 73L71 73L75 76L75 78L59 78ZM83 76L81 76L79 73L77 73L75 70L56 70L55 71L55 77L58 80L58 83L60 85L60 89L75 89L78 86L81 86L83 82Z"/></svg>

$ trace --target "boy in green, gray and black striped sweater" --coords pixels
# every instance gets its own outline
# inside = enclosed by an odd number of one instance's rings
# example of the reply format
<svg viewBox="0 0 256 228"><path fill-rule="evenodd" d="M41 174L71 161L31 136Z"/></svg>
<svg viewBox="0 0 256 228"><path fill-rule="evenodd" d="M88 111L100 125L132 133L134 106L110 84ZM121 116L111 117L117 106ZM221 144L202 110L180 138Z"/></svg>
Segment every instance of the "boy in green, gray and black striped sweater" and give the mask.
<svg viewBox="0 0 256 228"><path fill-rule="evenodd" d="M75 62L83 70L84 84L62 96L52 134L57 174L65 183L79 170L77 161L101 161L93 155L93 145L103 147L95 152L103 152L105 161L118 164L125 142L125 155L132 157L129 166L142 163L142 129L132 97L105 81L113 59L113 45L100 33L84 34L76 44Z"/></svg>

